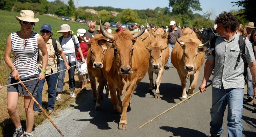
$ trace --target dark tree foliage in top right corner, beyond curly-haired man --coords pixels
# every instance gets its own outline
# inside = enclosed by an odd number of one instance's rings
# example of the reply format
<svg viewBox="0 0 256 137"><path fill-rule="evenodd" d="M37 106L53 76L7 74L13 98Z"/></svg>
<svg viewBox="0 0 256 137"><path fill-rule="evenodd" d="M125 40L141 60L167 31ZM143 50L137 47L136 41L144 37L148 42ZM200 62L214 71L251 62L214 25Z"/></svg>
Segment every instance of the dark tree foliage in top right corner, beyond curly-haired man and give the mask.
<svg viewBox="0 0 256 137"><path fill-rule="evenodd" d="M256 23L256 0L239 0L232 3L238 7L243 7L244 13L239 13L238 15L244 15L247 20Z"/></svg>

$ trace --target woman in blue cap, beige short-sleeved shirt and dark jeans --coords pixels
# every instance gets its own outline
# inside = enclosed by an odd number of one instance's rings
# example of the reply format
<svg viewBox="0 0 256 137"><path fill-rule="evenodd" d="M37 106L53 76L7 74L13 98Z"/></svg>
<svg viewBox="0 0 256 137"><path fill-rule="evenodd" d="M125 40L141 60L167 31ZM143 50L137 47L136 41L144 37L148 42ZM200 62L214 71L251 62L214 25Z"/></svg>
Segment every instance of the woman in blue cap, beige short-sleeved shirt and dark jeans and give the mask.
<svg viewBox="0 0 256 137"><path fill-rule="evenodd" d="M57 65L57 54L61 56L63 60L67 60L65 54L63 53L61 49L61 45L59 42L55 39L52 38L52 27L48 24L44 24L41 27L41 34L43 36L43 39L45 41L45 45L48 51L48 62L47 62L47 67L46 70L42 70L42 59L43 59L43 54L41 50L39 50L39 60L38 60L38 68L39 72L43 72L48 75L52 74L58 71L58 65ZM67 61L65 62L65 66L69 69L69 64ZM51 114L54 110L54 105L55 105L55 97L56 97L56 84L57 84L57 79L58 79L59 73L52 74L50 76L46 76L45 79L39 81L39 88L37 95L35 96L35 99L37 102L42 105L42 90L45 84L45 81L47 81L48 85L48 105L47 105L47 111L49 114ZM34 114L35 115L40 115L42 110L34 104Z"/></svg>

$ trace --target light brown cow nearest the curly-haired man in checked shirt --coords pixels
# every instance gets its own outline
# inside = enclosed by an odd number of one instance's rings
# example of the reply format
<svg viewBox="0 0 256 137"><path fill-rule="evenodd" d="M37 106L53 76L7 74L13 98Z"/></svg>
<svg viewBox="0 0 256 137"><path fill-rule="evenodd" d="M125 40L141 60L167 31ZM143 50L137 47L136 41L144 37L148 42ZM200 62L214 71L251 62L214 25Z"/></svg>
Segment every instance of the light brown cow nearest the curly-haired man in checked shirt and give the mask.
<svg viewBox="0 0 256 137"><path fill-rule="evenodd" d="M207 49L203 45L198 38L188 34L180 37L173 47L171 61L180 76L182 100L187 98L186 78L190 80L189 94L193 94L197 86L200 68L204 63L204 51Z"/></svg>

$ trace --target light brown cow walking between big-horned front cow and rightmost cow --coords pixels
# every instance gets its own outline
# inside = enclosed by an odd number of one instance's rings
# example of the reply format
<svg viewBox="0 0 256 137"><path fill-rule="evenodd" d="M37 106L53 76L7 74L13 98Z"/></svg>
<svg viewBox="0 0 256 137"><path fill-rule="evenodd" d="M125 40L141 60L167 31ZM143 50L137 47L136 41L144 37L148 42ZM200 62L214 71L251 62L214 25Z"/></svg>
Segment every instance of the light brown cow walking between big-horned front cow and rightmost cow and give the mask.
<svg viewBox="0 0 256 137"><path fill-rule="evenodd" d="M156 74L156 99L160 98L159 86L164 72L164 65L169 58L169 48L166 41L160 36L153 38L148 44L148 51L150 52L148 76L149 76L149 92L152 92L154 86L153 72Z"/></svg>

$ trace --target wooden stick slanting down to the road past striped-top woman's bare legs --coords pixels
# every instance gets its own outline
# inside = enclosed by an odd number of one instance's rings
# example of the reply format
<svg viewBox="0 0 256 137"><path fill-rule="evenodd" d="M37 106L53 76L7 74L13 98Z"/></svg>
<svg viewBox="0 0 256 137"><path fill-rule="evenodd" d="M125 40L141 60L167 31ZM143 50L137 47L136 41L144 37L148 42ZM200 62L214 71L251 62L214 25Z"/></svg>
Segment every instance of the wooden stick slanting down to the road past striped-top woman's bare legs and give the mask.
<svg viewBox="0 0 256 137"><path fill-rule="evenodd" d="M30 97L33 99L33 101L35 101L35 103L37 104L37 106L39 106L39 108L43 111L43 113L45 114L45 116L49 119L49 121L53 124L53 126L56 128L56 130L60 133L60 135L62 137L64 137L63 133L59 130L58 126L52 121L52 119L50 118L50 116L45 112L45 110L42 108L42 106L37 102L37 100L35 99L35 97L33 97L33 95L30 93L30 91L28 91L28 88L24 85L24 83L20 80L19 77L17 77L17 80L20 82L20 84L22 85L22 87L26 90L26 92L28 92L28 94L30 95Z"/></svg>

